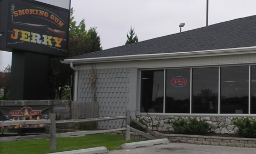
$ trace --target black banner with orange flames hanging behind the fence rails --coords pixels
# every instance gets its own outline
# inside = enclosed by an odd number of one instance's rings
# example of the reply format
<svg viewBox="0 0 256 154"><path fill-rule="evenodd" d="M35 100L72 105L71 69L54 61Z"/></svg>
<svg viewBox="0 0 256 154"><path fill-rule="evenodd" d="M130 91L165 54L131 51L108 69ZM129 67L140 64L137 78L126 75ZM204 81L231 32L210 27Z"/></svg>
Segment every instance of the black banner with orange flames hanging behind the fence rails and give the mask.
<svg viewBox="0 0 256 154"><path fill-rule="evenodd" d="M0 107L1 120L40 120L49 119L49 114L52 107L50 106L12 106L12 107ZM39 128L45 127L46 124L37 125L15 125L7 126L9 129L17 128Z"/></svg>

